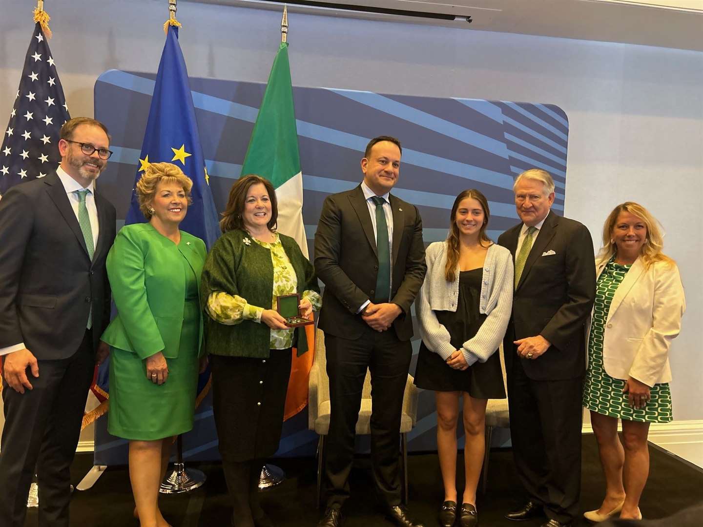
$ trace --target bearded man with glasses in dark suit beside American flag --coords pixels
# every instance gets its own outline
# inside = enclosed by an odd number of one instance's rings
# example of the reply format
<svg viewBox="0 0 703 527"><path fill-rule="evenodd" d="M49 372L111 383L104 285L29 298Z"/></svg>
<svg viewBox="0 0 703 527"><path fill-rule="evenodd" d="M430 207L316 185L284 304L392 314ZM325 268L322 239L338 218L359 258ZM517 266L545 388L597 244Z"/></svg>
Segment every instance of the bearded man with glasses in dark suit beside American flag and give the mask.
<svg viewBox="0 0 703 527"><path fill-rule="evenodd" d="M104 124L71 119L58 169L0 200L3 527L24 525L35 467L39 525L69 525L70 465L93 369L109 351L100 336L110 321L115 207L95 188L109 146Z"/></svg>

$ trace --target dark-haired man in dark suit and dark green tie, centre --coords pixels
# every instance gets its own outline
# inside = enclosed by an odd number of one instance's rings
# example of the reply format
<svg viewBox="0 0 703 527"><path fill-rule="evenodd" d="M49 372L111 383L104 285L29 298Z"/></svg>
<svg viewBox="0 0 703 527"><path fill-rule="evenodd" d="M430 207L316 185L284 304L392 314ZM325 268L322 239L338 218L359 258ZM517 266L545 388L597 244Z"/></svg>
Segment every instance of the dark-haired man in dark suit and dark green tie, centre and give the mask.
<svg viewBox="0 0 703 527"><path fill-rule="evenodd" d="M319 326L325 332L331 404L321 527L342 522L367 367L373 478L388 519L419 526L401 505L399 430L413 353L411 304L427 266L420 212L390 194L400 160L396 138L373 138L361 160L363 182L325 199L315 235L315 271L325 284Z"/></svg>

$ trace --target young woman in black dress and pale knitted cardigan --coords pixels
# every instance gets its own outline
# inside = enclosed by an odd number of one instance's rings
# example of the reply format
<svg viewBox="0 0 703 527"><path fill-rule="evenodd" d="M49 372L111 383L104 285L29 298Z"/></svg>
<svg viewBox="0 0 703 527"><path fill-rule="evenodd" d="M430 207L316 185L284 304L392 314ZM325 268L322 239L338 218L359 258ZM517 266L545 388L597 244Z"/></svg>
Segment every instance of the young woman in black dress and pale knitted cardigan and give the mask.
<svg viewBox="0 0 703 527"><path fill-rule="evenodd" d="M478 523L476 487L484 457L489 398L505 398L501 344L512 308L512 256L486 236L486 197L464 190L451 209L449 238L427 247L427 274L415 302L420 326L415 384L434 390L437 450L444 483L439 524ZM456 492L456 425L463 398L465 488ZM457 521L456 516L459 515Z"/></svg>

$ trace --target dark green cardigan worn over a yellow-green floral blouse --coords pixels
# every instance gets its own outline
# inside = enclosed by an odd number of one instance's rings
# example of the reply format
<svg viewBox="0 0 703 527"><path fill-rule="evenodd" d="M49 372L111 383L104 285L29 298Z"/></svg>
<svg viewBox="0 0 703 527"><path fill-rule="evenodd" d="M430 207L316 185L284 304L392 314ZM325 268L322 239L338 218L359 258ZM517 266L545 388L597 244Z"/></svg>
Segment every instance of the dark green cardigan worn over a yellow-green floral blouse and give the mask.
<svg viewBox="0 0 703 527"><path fill-rule="evenodd" d="M278 235L297 277L297 292L313 289L320 292L312 264L302 254L297 242ZM250 243L247 245L244 240ZM252 240L244 230L231 230L215 242L205 260L200 279L200 304L205 308L213 292L236 294L252 306L270 309L273 304L273 263L271 251ZM207 312L207 311L206 311ZM266 324L243 320L226 325L207 317L207 353L231 357L267 358L271 344L271 328ZM296 344L297 343L297 344ZM295 330L293 346L298 356L308 349L304 328Z"/></svg>

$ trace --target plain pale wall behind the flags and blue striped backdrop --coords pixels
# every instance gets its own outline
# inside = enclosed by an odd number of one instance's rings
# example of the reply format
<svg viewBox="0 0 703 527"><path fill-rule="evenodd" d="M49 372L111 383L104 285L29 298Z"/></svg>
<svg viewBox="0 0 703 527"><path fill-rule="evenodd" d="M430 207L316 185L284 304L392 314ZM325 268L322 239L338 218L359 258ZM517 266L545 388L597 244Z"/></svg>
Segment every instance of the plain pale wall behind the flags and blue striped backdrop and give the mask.
<svg viewBox="0 0 703 527"><path fill-rule="evenodd" d="M0 120L15 98L31 33L26 0L2 0ZM108 68L155 72L165 0L47 2L73 116L92 115ZM191 76L266 82L280 14L181 0ZM599 240L625 200L666 230L688 297L671 353L674 416L703 419L703 53L389 22L289 16L293 83L425 96L553 103L569 116L566 215ZM0 122L4 126L5 122Z"/></svg>

